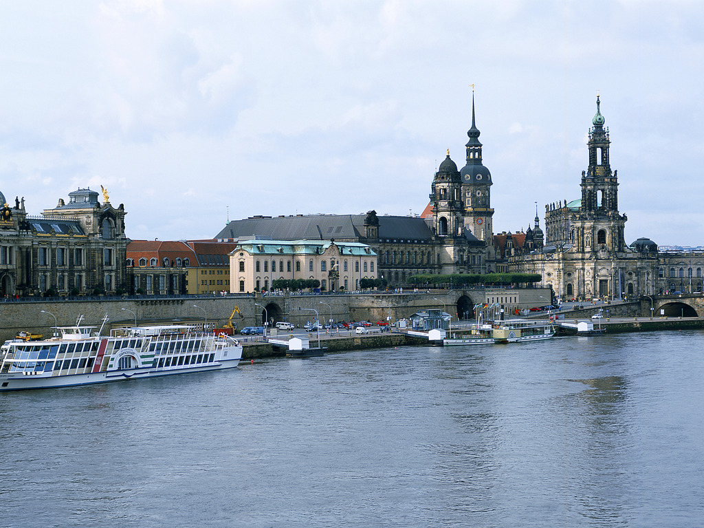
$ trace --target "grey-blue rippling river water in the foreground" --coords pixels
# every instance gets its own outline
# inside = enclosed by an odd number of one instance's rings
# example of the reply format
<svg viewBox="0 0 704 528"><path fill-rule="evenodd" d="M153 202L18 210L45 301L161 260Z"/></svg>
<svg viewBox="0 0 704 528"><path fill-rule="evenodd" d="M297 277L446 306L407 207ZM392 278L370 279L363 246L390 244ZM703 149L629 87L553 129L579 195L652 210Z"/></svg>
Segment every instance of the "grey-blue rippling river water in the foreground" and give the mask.
<svg viewBox="0 0 704 528"><path fill-rule="evenodd" d="M704 524L704 333L0 395L8 527Z"/></svg>

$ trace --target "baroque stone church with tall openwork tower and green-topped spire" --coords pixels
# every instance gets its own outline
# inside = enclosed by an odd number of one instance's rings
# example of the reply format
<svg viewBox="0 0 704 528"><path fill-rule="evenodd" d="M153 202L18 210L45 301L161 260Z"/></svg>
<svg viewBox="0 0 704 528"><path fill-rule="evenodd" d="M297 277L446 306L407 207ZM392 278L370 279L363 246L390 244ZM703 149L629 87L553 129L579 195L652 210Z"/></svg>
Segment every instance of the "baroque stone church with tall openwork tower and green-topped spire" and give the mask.
<svg viewBox="0 0 704 528"><path fill-rule="evenodd" d="M622 298L662 293L658 246L641 238L628 245L618 210L618 174L610 164L610 135L597 96L589 130L589 164L582 197L546 206L546 240L510 256L509 268L539 273L558 298ZM538 226L536 217L536 229Z"/></svg>

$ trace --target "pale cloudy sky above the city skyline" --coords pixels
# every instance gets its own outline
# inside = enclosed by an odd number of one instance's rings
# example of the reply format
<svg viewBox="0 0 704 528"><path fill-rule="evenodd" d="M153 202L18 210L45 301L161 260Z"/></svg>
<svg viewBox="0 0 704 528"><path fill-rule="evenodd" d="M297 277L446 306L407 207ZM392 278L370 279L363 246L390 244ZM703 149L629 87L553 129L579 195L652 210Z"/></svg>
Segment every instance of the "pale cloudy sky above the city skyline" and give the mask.
<svg viewBox="0 0 704 528"><path fill-rule="evenodd" d="M579 198L596 94L627 242L704 245L700 1L0 4L0 190L79 187L133 239L251 215L422 211L472 89L496 232Z"/></svg>

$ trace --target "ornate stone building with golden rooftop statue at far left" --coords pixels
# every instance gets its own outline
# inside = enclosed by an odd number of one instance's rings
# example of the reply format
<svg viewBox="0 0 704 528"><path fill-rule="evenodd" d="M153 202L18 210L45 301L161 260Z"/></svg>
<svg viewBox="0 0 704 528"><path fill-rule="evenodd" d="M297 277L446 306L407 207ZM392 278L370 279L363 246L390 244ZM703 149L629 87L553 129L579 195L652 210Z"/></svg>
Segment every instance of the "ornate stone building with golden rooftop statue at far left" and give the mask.
<svg viewBox="0 0 704 528"><path fill-rule="evenodd" d="M125 289L125 207L103 188L77 189L41 215L25 199L0 210L0 293L15 296L115 294Z"/></svg>

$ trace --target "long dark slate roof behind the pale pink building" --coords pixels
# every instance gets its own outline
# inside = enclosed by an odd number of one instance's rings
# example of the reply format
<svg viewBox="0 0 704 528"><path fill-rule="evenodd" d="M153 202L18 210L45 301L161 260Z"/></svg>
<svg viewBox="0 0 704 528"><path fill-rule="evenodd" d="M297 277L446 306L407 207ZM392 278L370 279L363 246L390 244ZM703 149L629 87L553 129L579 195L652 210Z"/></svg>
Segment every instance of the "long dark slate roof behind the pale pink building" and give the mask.
<svg viewBox="0 0 704 528"><path fill-rule="evenodd" d="M253 217L233 220L215 235L218 240L270 238L274 240L347 240L364 237L363 215L306 215ZM379 239L430 239L422 218L379 216Z"/></svg>

